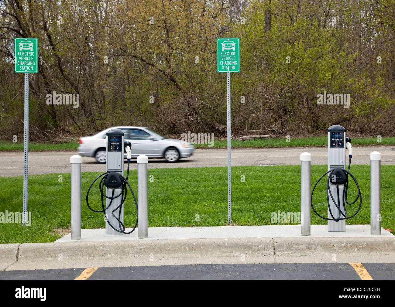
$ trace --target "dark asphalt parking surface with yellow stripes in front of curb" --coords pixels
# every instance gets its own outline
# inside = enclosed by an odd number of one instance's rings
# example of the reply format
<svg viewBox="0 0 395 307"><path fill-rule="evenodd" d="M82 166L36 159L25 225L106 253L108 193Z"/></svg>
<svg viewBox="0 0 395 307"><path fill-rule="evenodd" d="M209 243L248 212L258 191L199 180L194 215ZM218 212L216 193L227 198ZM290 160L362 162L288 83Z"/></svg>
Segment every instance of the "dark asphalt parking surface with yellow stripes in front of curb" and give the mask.
<svg viewBox="0 0 395 307"><path fill-rule="evenodd" d="M394 263L362 265L365 275L349 263L246 263L0 271L0 279L395 279Z"/></svg>

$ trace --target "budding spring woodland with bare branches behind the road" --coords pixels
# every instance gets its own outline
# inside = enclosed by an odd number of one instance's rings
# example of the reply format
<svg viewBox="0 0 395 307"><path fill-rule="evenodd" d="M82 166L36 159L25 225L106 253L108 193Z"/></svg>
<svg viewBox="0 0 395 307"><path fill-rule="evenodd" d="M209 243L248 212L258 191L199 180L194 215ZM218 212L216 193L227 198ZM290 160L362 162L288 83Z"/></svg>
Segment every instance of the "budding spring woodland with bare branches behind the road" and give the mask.
<svg viewBox="0 0 395 307"><path fill-rule="evenodd" d="M41 69L30 88L39 129L93 133L133 123L163 134L213 131L227 120L216 38L239 37L232 129L310 133L342 124L393 135L393 1L6 2L0 134L22 127L23 76L6 52L16 29L39 41ZM47 106L54 90L78 92L80 107ZM324 92L350 94L350 107L317 105Z"/></svg>

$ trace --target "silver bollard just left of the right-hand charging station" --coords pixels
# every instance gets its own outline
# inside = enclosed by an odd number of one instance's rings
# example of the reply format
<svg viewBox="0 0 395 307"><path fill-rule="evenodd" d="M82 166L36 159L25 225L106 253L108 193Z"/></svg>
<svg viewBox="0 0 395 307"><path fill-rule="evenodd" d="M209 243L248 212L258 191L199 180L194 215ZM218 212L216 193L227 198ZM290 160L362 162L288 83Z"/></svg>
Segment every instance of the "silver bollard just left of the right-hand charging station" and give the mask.
<svg viewBox="0 0 395 307"><path fill-rule="evenodd" d="M300 234L310 236L310 165L311 154L300 154Z"/></svg>

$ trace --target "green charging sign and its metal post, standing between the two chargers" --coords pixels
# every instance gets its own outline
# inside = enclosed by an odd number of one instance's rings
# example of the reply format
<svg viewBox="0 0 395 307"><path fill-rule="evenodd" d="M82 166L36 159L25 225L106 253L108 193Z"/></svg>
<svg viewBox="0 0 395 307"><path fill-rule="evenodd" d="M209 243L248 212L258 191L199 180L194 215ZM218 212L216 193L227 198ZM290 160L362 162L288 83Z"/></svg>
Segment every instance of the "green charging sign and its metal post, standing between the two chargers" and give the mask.
<svg viewBox="0 0 395 307"><path fill-rule="evenodd" d="M232 223L231 182L231 125L230 125L230 73L240 71L240 44L238 38L217 39L217 71L226 73L226 112L228 121L228 224Z"/></svg>

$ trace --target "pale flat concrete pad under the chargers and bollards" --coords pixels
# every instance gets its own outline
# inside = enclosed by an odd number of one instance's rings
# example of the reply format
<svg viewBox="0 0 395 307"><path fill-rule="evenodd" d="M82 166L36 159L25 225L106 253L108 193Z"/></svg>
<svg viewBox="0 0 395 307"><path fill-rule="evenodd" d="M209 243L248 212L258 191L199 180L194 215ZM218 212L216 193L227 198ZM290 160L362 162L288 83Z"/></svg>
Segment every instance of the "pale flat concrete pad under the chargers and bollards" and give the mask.
<svg viewBox="0 0 395 307"><path fill-rule="evenodd" d="M126 228L130 231L132 228ZM128 240L173 240L173 239L221 239L221 238L300 238L298 225L265 225L265 226L219 226L219 227L150 227L148 238L138 239L137 228L131 234L106 236L105 229L82 229L81 240L90 241L128 241ZM345 232L328 232L327 225L312 225L309 238L395 238L391 232L381 229L380 236L370 234L370 225L346 225ZM71 242L71 234L55 242Z"/></svg>

